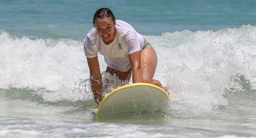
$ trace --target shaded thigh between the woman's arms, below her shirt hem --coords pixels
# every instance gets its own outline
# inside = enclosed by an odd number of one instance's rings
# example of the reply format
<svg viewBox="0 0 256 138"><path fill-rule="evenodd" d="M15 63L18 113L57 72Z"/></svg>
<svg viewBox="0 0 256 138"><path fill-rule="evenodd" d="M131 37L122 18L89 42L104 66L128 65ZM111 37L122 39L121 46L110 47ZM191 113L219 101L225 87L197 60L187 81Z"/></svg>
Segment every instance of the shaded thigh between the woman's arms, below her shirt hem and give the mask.
<svg viewBox="0 0 256 138"><path fill-rule="evenodd" d="M120 72L118 70L114 70L113 68L110 68L109 66L107 66L106 72L110 73L111 75L116 75L116 77L118 77L118 79L122 81L127 81L127 80L130 81L131 79L131 70L128 70L127 72Z"/></svg>

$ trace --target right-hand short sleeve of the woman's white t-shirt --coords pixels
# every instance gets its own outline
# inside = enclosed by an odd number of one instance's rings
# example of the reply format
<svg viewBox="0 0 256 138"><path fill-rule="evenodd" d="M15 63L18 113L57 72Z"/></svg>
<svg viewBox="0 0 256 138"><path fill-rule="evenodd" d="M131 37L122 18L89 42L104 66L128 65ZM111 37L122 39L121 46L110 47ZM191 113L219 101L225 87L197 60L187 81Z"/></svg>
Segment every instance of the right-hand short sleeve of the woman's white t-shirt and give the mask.
<svg viewBox="0 0 256 138"><path fill-rule="evenodd" d="M128 54L135 53L136 51L140 51L140 42L137 38L136 31L129 31L125 37L126 45L128 46Z"/></svg>

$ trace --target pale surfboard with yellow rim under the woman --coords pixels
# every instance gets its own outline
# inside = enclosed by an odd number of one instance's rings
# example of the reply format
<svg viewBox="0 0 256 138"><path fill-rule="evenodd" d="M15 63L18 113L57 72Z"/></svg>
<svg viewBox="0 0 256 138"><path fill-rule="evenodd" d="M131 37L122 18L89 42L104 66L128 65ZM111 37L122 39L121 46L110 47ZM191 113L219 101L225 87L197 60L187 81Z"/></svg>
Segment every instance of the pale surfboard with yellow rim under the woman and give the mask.
<svg viewBox="0 0 256 138"><path fill-rule="evenodd" d="M96 115L118 112L153 111L166 107L170 97L164 89L150 83L132 83L108 93Z"/></svg>

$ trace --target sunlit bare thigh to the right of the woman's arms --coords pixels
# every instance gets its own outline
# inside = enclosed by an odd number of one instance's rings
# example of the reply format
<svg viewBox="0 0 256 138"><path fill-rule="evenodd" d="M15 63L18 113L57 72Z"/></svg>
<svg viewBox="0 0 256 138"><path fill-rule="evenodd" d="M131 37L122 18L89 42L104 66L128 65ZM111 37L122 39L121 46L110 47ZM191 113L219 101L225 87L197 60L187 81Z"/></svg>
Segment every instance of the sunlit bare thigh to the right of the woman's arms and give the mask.
<svg viewBox="0 0 256 138"><path fill-rule="evenodd" d="M141 68L143 82L152 83L157 68L157 54L152 45L148 45L141 52Z"/></svg>

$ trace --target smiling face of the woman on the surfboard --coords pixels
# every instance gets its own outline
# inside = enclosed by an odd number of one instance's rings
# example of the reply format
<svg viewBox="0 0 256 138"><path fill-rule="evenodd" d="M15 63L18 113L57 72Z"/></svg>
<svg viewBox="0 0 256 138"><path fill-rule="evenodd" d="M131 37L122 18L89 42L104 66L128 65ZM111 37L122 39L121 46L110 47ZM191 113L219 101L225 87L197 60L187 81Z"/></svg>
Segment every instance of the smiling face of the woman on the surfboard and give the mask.
<svg viewBox="0 0 256 138"><path fill-rule="evenodd" d="M114 38L116 37L115 24L116 23L112 21L111 17L95 19L94 26L96 28L97 34L99 35L99 37L101 37L101 39L103 39L106 45L114 41Z"/></svg>

